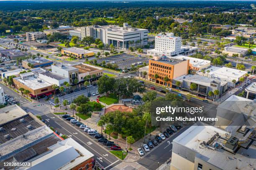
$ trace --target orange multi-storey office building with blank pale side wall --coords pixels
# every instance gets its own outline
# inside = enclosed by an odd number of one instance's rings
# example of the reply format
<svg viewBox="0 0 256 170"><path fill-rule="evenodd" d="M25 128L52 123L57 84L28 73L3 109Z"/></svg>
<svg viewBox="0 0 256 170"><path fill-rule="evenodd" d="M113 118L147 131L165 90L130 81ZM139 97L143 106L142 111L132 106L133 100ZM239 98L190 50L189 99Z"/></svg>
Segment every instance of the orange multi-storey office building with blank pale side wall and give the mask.
<svg viewBox="0 0 256 170"><path fill-rule="evenodd" d="M150 81L172 87L172 80L174 78L188 74L189 60L176 60L165 56L155 56L152 60L149 60L148 67ZM168 77L169 81L165 81L164 77Z"/></svg>

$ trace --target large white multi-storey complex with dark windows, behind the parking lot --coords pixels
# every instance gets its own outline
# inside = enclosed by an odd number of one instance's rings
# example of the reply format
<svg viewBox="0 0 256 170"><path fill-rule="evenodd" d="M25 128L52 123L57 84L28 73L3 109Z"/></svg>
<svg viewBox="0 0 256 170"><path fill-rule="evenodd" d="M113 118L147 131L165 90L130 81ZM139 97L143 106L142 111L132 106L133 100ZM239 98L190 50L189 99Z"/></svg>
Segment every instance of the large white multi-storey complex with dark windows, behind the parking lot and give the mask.
<svg viewBox="0 0 256 170"><path fill-rule="evenodd" d="M118 49L148 44L148 30L131 27L128 23L123 23L123 27L117 25L81 27L81 39L87 36L99 38L104 45L113 44Z"/></svg>

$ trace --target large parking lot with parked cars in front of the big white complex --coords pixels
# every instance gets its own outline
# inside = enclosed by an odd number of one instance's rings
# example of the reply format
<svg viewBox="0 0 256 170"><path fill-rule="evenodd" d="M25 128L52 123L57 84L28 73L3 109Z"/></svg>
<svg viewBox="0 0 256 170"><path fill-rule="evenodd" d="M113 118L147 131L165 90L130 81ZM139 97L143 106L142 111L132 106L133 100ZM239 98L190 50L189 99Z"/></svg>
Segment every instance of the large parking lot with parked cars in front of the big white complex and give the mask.
<svg viewBox="0 0 256 170"><path fill-rule="evenodd" d="M120 55L113 55L110 57L102 58L97 60L97 63L101 63L102 61L105 61L107 63L111 64L117 64L118 68L124 69L131 68L132 65L142 65L143 62L146 62L148 64L148 58L147 57L136 57L134 55L129 54L120 54Z"/></svg>

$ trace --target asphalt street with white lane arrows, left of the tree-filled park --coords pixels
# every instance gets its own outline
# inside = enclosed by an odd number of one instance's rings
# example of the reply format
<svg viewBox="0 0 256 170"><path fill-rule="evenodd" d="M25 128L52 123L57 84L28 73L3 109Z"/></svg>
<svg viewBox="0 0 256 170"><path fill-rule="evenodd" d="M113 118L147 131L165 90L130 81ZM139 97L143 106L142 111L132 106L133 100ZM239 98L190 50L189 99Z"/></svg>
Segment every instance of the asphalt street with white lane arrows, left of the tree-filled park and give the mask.
<svg viewBox="0 0 256 170"><path fill-rule="evenodd" d="M64 120L61 120L57 115L49 113L42 115L42 119L46 120L46 125L53 127L54 130L58 131L58 133L68 135L70 138L74 139L77 143L93 153L95 155L95 160L97 160L106 170L110 170L121 163L118 158L100 147L100 145L95 143L94 140L85 136L82 131L77 130L72 127L72 125L64 122Z"/></svg>

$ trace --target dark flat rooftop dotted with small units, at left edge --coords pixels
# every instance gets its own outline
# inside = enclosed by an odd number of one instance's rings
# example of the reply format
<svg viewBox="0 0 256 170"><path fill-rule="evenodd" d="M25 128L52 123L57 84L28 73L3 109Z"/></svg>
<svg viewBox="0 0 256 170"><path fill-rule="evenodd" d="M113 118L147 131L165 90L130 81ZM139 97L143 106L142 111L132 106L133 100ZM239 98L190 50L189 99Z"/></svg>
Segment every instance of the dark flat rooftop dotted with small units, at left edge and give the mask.
<svg viewBox="0 0 256 170"><path fill-rule="evenodd" d="M15 113L15 115L17 114ZM16 119L12 121L0 125L0 128L3 128L2 130L0 130L0 145L44 125L32 114L26 114L15 118ZM9 136L7 137L5 135Z"/></svg>

